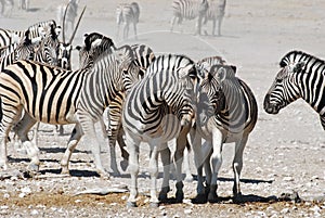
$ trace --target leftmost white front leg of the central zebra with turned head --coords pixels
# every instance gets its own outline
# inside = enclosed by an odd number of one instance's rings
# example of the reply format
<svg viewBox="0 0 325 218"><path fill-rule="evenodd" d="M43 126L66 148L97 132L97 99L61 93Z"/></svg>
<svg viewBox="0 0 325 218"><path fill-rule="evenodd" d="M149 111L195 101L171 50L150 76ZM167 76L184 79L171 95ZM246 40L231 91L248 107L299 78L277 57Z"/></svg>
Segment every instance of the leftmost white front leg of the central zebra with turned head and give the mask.
<svg viewBox="0 0 325 218"><path fill-rule="evenodd" d="M131 176L130 196L127 202L128 207L136 206L138 197L138 175L139 175L139 145L140 141L131 138L128 131L126 131L126 141L128 150L130 153L129 156L129 171Z"/></svg>

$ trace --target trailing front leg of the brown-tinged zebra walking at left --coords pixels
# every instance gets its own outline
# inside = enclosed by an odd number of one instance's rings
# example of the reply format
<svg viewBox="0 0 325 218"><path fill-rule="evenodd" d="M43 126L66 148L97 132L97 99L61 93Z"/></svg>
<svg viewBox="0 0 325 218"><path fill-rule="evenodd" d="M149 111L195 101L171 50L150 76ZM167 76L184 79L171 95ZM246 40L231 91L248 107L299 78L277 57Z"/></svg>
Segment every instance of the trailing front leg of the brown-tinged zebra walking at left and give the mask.
<svg viewBox="0 0 325 218"><path fill-rule="evenodd" d="M67 148L61 159L61 169L62 169L61 174L62 175L69 175L69 169L68 169L69 159L70 159L72 154L73 154L74 150L76 149L81 136L82 136L82 133L81 133L80 126L77 124L75 126L75 128L73 129Z"/></svg>

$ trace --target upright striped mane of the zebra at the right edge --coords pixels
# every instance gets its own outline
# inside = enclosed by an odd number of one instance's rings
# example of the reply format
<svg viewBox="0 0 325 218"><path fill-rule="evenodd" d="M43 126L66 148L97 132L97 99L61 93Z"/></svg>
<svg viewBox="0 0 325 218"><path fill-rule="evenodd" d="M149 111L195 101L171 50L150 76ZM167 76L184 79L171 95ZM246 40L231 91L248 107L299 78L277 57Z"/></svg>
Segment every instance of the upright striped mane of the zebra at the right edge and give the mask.
<svg viewBox="0 0 325 218"><path fill-rule="evenodd" d="M281 62L280 62L280 66L281 67L285 67L287 65L289 65L290 63L298 63L298 62L310 62L311 60L313 60L313 62L318 62L320 64L325 64L324 60L321 60L316 56L313 56L311 54L308 54L303 51L290 51L288 52L286 55L284 55L284 57L282 57Z"/></svg>

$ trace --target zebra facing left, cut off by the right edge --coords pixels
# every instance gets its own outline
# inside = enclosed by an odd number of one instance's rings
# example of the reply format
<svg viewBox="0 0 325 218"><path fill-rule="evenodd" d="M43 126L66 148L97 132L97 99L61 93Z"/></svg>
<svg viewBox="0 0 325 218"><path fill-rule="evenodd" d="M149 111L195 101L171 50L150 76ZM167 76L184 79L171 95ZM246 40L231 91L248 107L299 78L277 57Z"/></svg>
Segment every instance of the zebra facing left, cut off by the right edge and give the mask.
<svg viewBox="0 0 325 218"><path fill-rule="evenodd" d="M264 98L265 112L277 114L301 98L320 114L325 130L325 61L302 51L290 51L280 66Z"/></svg>

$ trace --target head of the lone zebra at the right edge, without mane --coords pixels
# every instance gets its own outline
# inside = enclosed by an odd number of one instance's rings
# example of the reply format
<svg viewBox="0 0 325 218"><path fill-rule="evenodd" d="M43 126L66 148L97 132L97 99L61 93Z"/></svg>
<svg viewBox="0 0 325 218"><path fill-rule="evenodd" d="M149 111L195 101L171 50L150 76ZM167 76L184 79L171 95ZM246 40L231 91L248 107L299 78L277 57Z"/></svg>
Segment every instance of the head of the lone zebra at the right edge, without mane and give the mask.
<svg viewBox="0 0 325 218"><path fill-rule="evenodd" d="M304 72L304 62L282 62L281 66L264 98L263 106L269 114L277 114L280 110L301 97L298 78Z"/></svg>

